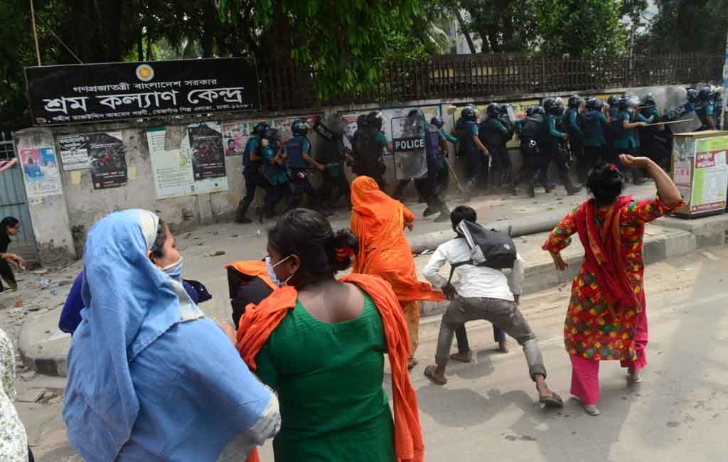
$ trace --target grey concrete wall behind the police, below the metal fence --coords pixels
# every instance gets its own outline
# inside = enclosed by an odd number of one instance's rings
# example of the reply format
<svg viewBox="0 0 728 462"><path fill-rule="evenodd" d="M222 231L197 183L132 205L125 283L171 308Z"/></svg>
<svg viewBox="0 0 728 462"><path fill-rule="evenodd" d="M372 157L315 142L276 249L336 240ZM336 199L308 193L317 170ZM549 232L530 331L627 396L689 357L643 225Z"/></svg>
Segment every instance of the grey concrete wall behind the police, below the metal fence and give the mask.
<svg viewBox="0 0 728 462"><path fill-rule="evenodd" d="M684 103L685 91L681 87L643 87L634 89L610 89L609 94L628 92L636 95L645 95L653 92L661 108L673 108ZM561 96L569 95L563 92ZM546 94L509 95L499 98L498 101L510 102L517 100L542 99ZM331 112L338 113L368 113L383 108L410 108L419 105L439 105L440 113L446 121L446 130L451 130L454 122L451 116L446 116L450 105L464 103L487 103L483 100L421 100L408 101L386 107L377 105L340 105L332 106L318 111L320 115ZM312 115L316 111L307 111L305 115ZM171 138L181 139L186 127L190 123L218 121L225 122L241 119L280 119L295 117L297 113L267 113L267 114L210 114L208 117L175 118L167 121L167 132L172 133ZM81 170L80 181L74 182L71 172L63 172L63 196L50 196L40 202L30 204L33 229L39 242L41 260L80 256L85 235L95 221L114 210L123 210L139 207L157 212L175 231L197 226L200 223L231 220L237 203L245 192L242 178L242 159L240 156L226 158L226 172L229 191L196 196L182 196L172 199L157 199L152 176L149 148L146 140L146 128L158 126L159 121L153 122L119 122L106 124L78 124L66 127L28 129L15 133L18 148L33 148L41 146L55 146L58 154L58 145L55 138L59 135L84 134L92 132L121 131L124 141L129 179L126 186L95 190L91 180L90 170ZM686 124L678 131L689 131L695 125ZM697 126L696 126L697 127ZM312 146L317 146L317 136L312 133L310 138ZM169 135L168 135L168 138ZM451 149L454 154L454 149ZM514 168L520 168L521 155L517 149L511 150ZM455 169L464 178L464 159L456 160L451 157ZM395 183L393 160L387 160L387 180ZM76 174L77 175L77 174ZM351 178L351 172L349 172ZM78 180L78 178L76 178ZM451 188L456 188L451 181ZM408 194L414 194L414 188L408 189ZM256 201L260 202L258 197ZM47 255L44 257L44 255Z"/></svg>

